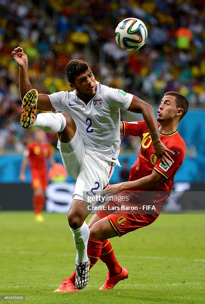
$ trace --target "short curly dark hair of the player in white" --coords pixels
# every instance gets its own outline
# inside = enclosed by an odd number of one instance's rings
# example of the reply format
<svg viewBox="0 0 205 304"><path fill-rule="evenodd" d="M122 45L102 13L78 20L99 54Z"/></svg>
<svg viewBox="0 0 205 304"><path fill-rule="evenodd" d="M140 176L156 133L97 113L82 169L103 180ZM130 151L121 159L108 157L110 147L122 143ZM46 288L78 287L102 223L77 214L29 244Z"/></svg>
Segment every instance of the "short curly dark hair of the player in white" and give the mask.
<svg viewBox="0 0 205 304"><path fill-rule="evenodd" d="M75 83L75 76L87 71L89 69L88 64L79 59L72 59L66 65L66 77L69 83Z"/></svg>

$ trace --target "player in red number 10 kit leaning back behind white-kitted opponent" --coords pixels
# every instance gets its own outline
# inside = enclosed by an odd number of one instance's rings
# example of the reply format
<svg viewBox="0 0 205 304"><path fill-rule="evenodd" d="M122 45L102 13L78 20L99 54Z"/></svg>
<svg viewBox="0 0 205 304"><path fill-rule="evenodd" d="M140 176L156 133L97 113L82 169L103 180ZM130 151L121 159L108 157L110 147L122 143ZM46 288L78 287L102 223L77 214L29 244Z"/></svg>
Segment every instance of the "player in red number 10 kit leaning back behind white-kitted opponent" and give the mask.
<svg viewBox="0 0 205 304"><path fill-rule="evenodd" d="M128 277L127 269L119 265L109 238L123 236L138 228L153 223L161 212L164 200L170 195L174 176L183 163L185 143L177 126L189 109L187 98L177 92L166 92L157 111L160 140L174 152L173 163L162 164L153 153L153 144L144 121L121 122L122 135L139 136L141 148L130 169L129 181L110 185L106 195L113 198L90 219L88 226L88 257L90 268L100 258L108 267L108 275L100 290L112 289ZM127 204L126 199L129 198ZM127 209L125 209L125 205ZM150 207L149 207L150 206ZM131 210L129 210L128 207ZM108 211L109 210L109 211ZM64 279L54 292L76 292L75 272Z"/></svg>

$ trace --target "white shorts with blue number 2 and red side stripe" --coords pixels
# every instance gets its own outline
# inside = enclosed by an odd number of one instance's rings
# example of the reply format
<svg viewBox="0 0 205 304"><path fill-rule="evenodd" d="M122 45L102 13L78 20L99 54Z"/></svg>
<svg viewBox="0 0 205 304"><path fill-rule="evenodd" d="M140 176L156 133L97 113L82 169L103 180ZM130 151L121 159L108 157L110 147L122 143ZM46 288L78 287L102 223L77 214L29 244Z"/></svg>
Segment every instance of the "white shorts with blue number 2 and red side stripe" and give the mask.
<svg viewBox="0 0 205 304"><path fill-rule="evenodd" d="M113 175L115 164L113 162L103 161L86 151L84 142L80 134L77 133L78 131L76 131L75 136L79 138L79 141L72 152L70 152L70 147L68 147L66 153L66 143L58 141L57 147L60 150L67 173L76 179L72 199L82 200L94 206L96 205L96 201L93 200L90 202L90 196L101 195L106 191L109 180Z"/></svg>

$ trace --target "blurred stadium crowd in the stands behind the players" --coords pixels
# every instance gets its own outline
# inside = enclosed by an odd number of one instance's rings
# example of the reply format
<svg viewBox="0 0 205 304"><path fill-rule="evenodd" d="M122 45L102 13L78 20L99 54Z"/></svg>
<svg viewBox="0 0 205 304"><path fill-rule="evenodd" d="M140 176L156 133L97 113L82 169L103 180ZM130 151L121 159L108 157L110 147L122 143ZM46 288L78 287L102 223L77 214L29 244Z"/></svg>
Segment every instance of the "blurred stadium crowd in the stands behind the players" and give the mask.
<svg viewBox="0 0 205 304"><path fill-rule="evenodd" d="M143 20L146 44L126 52L115 43L116 25L127 17ZM32 131L19 124L18 66L11 53L21 46L29 77L39 93L70 90L65 67L86 60L96 80L158 105L177 91L191 107L205 107L203 0L0 0L0 153L22 153ZM48 134L56 146L56 135ZM133 149L125 140L125 150Z"/></svg>

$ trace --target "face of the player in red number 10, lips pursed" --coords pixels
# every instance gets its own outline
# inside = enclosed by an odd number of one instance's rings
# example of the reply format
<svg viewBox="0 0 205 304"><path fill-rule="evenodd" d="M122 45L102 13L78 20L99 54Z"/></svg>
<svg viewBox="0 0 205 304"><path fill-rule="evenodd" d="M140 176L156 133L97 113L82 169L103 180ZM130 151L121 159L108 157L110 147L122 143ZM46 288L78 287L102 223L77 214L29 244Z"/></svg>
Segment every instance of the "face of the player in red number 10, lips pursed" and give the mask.
<svg viewBox="0 0 205 304"><path fill-rule="evenodd" d="M157 111L157 121L160 123L164 120L172 120L177 113L175 97L166 95L162 98L161 104Z"/></svg>

